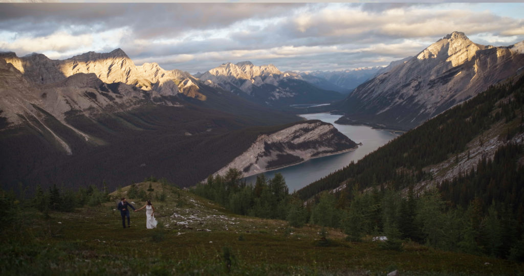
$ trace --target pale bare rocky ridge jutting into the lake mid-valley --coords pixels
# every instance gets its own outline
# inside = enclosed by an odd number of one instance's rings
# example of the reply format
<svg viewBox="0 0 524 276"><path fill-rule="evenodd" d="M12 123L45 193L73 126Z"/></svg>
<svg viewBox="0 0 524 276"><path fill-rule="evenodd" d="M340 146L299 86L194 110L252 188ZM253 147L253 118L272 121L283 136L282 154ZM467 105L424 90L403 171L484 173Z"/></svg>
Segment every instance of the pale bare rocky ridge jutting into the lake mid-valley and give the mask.
<svg viewBox="0 0 524 276"><path fill-rule="evenodd" d="M235 168L249 176L356 147L354 141L333 125L311 120L274 134L260 135L248 150L216 174L224 175L228 169Z"/></svg>

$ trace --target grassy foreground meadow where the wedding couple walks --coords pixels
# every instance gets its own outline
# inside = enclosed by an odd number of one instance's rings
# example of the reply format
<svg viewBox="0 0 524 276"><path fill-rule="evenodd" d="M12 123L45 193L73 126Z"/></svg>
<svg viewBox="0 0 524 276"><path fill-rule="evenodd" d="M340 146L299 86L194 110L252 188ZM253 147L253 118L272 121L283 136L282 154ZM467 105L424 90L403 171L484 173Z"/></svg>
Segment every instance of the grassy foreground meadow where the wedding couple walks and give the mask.
<svg viewBox="0 0 524 276"><path fill-rule="evenodd" d="M149 183L138 186L147 189ZM233 215L173 187L161 202L155 200L161 185L151 187L157 229L146 229L144 210L132 213L132 227L122 228L116 204L129 187L112 193L112 202L73 213L21 209L20 224L1 236L0 274L524 274L522 263L412 242L402 251L383 250L372 237L349 242L336 229L327 229L323 240L315 225L292 228L282 220Z"/></svg>

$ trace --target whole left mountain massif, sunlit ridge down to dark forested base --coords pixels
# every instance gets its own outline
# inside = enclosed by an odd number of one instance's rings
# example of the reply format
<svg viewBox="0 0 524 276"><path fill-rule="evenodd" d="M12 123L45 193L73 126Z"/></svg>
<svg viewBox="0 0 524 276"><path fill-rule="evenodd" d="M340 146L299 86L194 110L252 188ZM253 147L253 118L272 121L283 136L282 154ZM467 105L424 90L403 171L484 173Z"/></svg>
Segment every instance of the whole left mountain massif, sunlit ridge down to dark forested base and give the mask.
<svg viewBox="0 0 524 276"><path fill-rule="evenodd" d="M136 67L118 49L62 61L3 53L0 77L6 189L115 189L151 175L191 186L300 120L178 70ZM325 153L318 133L311 154Z"/></svg>

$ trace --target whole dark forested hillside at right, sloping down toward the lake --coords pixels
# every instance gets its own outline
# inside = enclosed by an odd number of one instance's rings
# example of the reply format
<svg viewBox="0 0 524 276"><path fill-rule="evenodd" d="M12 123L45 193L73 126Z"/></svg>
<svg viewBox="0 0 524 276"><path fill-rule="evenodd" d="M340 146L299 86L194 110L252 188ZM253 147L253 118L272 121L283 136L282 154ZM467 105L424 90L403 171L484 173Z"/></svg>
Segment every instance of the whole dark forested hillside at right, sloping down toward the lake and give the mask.
<svg viewBox="0 0 524 276"><path fill-rule="evenodd" d="M343 228L352 239L385 234L392 247L411 239L524 260L523 108L521 76L490 87L297 195L312 209L331 210L321 216L325 225Z"/></svg>

